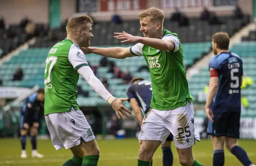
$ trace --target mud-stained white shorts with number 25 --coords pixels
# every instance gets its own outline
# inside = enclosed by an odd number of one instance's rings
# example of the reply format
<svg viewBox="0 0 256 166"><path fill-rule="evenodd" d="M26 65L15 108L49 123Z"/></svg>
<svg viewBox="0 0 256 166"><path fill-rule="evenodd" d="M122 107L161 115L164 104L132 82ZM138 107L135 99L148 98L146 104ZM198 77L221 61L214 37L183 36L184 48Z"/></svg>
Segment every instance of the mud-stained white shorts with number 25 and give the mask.
<svg viewBox="0 0 256 166"><path fill-rule="evenodd" d="M164 144L172 133L176 148L189 148L200 141L194 127L194 107L187 102L183 107L160 111L151 108L142 121L139 140L156 140Z"/></svg>

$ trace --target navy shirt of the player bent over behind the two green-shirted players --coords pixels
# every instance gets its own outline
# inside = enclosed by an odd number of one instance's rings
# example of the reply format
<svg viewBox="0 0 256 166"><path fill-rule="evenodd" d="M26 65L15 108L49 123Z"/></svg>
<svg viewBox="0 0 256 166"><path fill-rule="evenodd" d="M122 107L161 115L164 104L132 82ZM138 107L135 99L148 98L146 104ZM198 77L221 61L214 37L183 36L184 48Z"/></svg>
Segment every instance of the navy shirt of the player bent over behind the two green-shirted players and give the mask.
<svg viewBox="0 0 256 166"><path fill-rule="evenodd" d="M150 81L143 80L137 84L130 85L126 94L128 98L135 98L137 100L144 113L150 109L152 98L152 86Z"/></svg>

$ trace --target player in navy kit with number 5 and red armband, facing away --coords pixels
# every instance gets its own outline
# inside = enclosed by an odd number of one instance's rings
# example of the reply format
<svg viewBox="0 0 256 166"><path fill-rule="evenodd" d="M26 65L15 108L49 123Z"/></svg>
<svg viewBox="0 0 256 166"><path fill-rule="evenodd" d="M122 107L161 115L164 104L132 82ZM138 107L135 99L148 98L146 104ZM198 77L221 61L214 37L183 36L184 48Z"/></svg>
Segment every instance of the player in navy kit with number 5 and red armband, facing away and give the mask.
<svg viewBox="0 0 256 166"><path fill-rule="evenodd" d="M238 146L240 136L241 58L228 51L229 36L219 32L212 36L214 57L210 60L210 85L205 105L209 119L207 133L212 136L213 166L224 166L224 144L244 166L252 164L246 151Z"/></svg>

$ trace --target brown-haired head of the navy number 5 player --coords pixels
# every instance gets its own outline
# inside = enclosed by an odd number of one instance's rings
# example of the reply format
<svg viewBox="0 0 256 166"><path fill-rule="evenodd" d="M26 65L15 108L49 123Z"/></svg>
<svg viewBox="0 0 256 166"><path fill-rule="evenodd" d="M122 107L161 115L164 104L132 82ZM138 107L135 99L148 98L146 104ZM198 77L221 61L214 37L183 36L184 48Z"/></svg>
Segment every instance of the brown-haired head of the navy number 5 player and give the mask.
<svg viewBox="0 0 256 166"><path fill-rule="evenodd" d="M226 32L217 32L212 35L212 41L217 43L219 49L228 49L229 35Z"/></svg>

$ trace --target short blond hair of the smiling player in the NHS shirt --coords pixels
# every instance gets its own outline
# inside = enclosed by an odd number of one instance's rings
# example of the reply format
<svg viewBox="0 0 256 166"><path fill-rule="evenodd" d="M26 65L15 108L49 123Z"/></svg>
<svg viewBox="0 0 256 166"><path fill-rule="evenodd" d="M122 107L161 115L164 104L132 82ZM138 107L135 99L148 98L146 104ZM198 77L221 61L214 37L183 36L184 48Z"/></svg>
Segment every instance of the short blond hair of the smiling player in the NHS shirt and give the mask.
<svg viewBox="0 0 256 166"><path fill-rule="evenodd" d="M164 12L156 7L148 8L147 10L143 10L138 14L139 19L145 18L147 16L150 16L151 20L164 23Z"/></svg>

